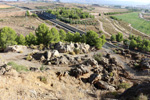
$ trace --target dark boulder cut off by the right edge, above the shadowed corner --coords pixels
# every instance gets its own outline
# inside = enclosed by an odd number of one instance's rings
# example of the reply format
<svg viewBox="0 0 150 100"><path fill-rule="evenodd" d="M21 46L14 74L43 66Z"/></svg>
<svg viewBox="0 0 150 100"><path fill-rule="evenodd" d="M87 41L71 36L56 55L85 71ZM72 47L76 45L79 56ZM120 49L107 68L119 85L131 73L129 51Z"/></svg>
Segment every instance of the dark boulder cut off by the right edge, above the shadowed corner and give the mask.
<svg viewBox="0 0 150 100"><path fill-rule="evenodd" d="M142 58L140 66L142 69L150 69L150 58Z"/></svg>

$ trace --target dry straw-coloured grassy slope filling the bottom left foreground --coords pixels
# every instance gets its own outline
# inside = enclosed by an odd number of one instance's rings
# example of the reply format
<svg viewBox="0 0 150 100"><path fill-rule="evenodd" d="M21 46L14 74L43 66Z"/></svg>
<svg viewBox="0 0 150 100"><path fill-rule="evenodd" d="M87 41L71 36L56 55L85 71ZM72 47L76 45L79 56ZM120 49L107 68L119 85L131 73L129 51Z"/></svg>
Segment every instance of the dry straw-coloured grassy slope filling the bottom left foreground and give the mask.
<svg viewBox="0 0 150 100"><path fill-rule="evenodd" d="M38 77L47 78L47 83ZM22 72L0 76L1 100L94 100L93 87L65 76L59 80L55 71ZM91 95L90 95L91 94Z"/></svg>

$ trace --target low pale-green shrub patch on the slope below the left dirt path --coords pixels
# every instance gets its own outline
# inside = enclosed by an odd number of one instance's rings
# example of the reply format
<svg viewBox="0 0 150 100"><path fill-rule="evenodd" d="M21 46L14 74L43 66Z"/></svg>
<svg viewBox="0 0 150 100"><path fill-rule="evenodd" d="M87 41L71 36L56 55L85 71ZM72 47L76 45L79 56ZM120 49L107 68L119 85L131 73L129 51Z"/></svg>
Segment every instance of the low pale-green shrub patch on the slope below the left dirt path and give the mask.
<svg viewBox="0 0 150 100"><path fill-rule="evenodd" d="M12 68L15 69L17 72L28 71L26 66L18 65L15 62L9 62L8 65L12 66Z"/></svg>

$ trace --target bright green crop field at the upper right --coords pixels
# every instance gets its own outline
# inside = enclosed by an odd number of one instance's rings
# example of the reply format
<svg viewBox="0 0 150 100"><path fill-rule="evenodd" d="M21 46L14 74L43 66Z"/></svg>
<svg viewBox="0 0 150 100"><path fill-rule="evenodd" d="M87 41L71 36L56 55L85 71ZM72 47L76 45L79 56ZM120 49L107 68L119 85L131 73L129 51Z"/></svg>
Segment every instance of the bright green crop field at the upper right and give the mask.
<svg viewBox="0 0 150 100"><path fill-rule="evenodd" d="M143 33L150 34L150 22L139 18L138 14L138 12L133 12L123 15L116 15L115 17L130 23L132 27Z"/></svg>

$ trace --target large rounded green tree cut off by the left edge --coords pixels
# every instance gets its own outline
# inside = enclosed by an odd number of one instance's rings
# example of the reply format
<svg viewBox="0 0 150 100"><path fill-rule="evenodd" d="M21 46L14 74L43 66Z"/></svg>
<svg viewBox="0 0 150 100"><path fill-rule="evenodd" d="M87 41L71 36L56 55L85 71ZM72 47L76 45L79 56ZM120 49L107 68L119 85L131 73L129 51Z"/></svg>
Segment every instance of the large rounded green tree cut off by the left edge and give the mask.
<svg viewBox="0 0 150 100"><path fill-rule="evenodd" d="M0 29L0 48L5 49L9 45L17 44L16 38L17 34L13 29L9 27Z"/></svg>

